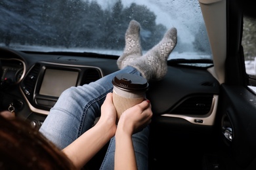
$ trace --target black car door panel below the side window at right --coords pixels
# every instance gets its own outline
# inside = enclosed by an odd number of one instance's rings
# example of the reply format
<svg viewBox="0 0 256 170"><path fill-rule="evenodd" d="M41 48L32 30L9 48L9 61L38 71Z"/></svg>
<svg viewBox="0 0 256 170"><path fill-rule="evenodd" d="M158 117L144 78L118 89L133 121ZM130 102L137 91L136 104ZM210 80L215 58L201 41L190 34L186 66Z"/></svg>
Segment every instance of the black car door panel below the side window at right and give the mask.
<svg viewBox="0 0 256 170"><path fill-rule="evenodd" d="M237 168L247 169L255 162L256 105L255 94L242 86L221 86L219 100L219 133L230 127L232 140L222 134L226 154ZM230 167L230 165L228 165ZM253 166L255 167L255 166Z"/></svg>

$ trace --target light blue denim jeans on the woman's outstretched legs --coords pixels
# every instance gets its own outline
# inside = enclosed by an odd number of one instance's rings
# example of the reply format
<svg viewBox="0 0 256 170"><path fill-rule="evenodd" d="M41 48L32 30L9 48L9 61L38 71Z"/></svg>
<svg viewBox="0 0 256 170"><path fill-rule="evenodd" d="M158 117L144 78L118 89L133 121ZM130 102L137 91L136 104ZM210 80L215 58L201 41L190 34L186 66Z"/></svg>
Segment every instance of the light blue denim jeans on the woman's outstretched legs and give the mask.
<svg viewBox="0 0 256 170"><path fill-rule="evenodd" d="M112 92L112 79L119 73L140 75L133 67L125 67L96 82L68 88L59 97L39 129L47 139L63 149L90 129L100 116L106 94ZM133 135L138 169L148 169L149 126ZM100 169L114 169L115 137L112 137Z"/></svg>

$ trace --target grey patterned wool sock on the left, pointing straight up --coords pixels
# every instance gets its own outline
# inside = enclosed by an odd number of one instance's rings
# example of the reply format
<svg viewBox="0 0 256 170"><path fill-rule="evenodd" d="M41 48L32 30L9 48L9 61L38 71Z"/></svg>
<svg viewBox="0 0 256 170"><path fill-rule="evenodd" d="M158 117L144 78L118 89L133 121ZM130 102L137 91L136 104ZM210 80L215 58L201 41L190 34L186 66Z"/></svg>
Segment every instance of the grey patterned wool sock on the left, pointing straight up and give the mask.
<svg viewBox="0 0 256 170"><path fill-rule="evenodd" d="M125 33L125 49L123 50L123 54L117 59L117 66L119 69L123 69L140 56L142 56L140 24L135 20L131 20Z"/></svg>

